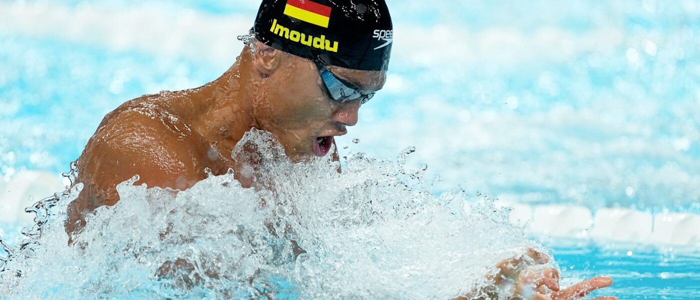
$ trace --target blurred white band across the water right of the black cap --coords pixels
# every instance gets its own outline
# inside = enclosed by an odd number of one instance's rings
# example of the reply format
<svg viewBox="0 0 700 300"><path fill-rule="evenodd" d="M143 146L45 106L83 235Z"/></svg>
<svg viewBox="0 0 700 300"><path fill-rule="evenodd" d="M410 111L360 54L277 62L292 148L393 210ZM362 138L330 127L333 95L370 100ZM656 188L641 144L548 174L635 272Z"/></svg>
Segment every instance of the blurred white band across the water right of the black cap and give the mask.
<svg viewBox="0 0 700 300"><path fill-rule="evenodd" d="M584 34L554 27L540 27L530 33L512 27L472 31L447 24L396 27L401 28L395 38L398 57L420 66L489 62L491 67L507 67L521 66L524 62L564 62L584 52L609 53L624 43L624 34L614 27L600 27ZM436 52L441 55L435 55Z"/></svg>

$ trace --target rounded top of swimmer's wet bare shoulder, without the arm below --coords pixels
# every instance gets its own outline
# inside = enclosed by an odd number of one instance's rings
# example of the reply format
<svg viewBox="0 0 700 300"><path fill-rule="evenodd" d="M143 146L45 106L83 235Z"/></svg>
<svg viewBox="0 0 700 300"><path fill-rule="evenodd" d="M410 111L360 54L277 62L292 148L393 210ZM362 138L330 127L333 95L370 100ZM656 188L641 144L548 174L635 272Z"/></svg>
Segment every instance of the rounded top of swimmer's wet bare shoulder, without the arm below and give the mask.
<svg viewBox="0 0 700 300"><path fill-rule="evenodd" d="M126 179L140 171L142 180L152 186L182 188L176 178L197 169L200 141L190 124L162 99L142 97L105 117L79 163L83 170L93 162L114 164Z"/></svg>

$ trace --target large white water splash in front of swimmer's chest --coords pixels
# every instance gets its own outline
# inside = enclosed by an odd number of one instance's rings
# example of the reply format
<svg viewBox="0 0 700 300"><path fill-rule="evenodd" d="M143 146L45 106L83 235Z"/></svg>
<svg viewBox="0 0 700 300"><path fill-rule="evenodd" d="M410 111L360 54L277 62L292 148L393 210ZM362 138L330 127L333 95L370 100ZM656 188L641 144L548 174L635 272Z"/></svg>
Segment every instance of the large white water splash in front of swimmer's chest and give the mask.
<svg viewBox="0 0 700 300"><path fill-rule="evenodd" d="M354 153L338 173L327 159L292 164L270 134L251 131L233 156L250 163L255 189L233 172L186 191L134 186L135 176L69 247L76 185L32 208L31 251L6 259L0 294L450 299L489 285L484 275L517 248L538 247L487 198L434 197L425 170L405 167L411 152L398 163Z"/></svg>

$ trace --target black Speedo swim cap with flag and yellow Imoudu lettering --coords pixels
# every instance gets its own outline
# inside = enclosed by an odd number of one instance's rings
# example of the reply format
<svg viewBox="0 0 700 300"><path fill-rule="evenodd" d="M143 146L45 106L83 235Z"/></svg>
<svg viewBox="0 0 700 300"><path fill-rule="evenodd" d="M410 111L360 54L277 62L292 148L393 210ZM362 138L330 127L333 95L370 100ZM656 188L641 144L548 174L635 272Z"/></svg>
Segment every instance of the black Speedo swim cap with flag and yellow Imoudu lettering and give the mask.
<svg viewBox="0 0 700 300"><path fill-rule="evenodd" d="M258 41L324 64L386 71L393 25L384 0L263 0Z"/></svg>

